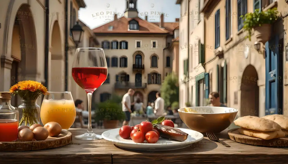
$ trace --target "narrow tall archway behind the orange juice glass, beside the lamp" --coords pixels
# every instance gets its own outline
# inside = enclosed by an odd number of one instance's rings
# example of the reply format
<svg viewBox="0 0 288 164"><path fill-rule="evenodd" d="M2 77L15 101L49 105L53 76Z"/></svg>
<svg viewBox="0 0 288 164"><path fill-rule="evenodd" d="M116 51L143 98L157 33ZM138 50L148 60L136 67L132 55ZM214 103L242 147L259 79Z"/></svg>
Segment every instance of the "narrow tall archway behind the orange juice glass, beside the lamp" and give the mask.
<svg viewBox="0 0 288 164"><path fill-rule="evenodd" d="M62 55L62 43L61 34L58 21L54 22L51 35L50 44L50 78L49 78L49 88L50 91L64 91L65 82L65 65L64 56Z"/></svg>

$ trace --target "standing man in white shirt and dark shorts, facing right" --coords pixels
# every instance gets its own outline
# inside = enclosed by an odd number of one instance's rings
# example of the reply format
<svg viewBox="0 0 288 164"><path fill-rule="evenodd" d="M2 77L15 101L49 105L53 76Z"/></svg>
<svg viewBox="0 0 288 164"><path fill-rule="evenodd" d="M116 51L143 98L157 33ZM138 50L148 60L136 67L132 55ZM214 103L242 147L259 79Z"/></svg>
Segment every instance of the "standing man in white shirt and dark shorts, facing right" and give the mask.
<svg viewBox="0 0 288 164"><path fill-rule="evenodd" d="M123 126L124 125L129 125L129 121L130 121L130 114L132 113L131 108L131 104L133 105L133 103L131 103L131 98L130 96L134 95L134 90L133 89L129 89L128 92L126 94L124 94L123 98L122 98L122 111L125 113L126 119L123 121Z"/></svg>

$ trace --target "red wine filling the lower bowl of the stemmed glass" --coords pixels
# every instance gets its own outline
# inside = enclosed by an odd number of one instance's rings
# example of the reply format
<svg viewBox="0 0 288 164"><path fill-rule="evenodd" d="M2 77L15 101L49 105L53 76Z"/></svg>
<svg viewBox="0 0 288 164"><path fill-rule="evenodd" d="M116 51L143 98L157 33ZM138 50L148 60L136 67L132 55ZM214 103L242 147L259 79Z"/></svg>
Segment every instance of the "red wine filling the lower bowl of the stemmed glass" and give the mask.
<svg viewBox="0 0 288 164"><path fill-rule="evenodd" d="M82 87L86 93L94 92L104 83L108 70L105 67L80 67L72 68L74 81Z"/></svg>

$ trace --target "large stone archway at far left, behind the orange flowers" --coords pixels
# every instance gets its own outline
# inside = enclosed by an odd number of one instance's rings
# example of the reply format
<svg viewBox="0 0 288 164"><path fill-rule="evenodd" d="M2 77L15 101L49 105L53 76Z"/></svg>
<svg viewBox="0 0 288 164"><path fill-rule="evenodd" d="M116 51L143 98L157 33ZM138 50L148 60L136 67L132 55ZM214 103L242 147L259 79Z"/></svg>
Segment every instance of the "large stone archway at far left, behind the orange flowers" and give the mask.
<svg viewBox="0 0 288 164"><path fill-rule="evenodd" d="M11 43L11 86L18 81L36 80L37 41L33 14L29 5L19 7L13 25ZM19 105L20 98L12 96L12 105Z"/></svg>

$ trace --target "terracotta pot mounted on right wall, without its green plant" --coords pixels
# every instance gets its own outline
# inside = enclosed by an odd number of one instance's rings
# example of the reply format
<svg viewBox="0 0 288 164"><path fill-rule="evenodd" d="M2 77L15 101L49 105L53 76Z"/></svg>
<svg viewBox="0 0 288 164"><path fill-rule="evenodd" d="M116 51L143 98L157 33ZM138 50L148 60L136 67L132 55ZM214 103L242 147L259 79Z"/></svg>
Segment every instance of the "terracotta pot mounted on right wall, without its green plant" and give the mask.
<svg viewBox="0 0 288 164"><path fill-rule="evenodd" d="M258 42L261 42L265 45L271 37L271 28L272 24L263 24L262 26L254 28L254 35Z"/></svg>

